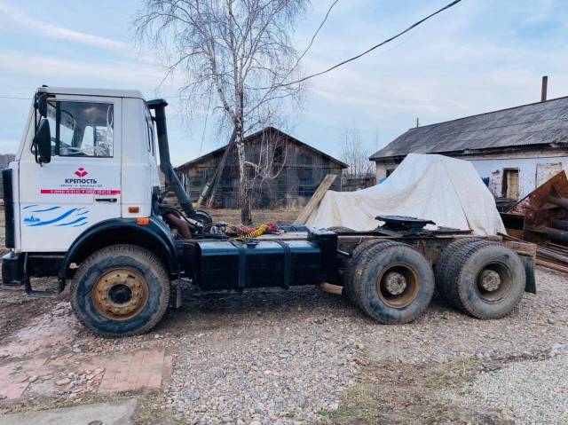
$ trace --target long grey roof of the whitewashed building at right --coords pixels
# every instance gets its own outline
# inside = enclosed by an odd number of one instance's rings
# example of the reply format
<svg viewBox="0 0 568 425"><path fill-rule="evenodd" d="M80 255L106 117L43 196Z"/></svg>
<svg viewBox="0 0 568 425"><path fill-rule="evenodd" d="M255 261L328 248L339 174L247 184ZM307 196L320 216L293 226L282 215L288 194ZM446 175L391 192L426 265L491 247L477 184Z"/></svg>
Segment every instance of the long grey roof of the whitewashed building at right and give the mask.
<svg viewBox="0 0 568 425"><path fill-rule="evenodd" d="M568 146L568 97L410 129L369 159L543 146Z"/></svg>

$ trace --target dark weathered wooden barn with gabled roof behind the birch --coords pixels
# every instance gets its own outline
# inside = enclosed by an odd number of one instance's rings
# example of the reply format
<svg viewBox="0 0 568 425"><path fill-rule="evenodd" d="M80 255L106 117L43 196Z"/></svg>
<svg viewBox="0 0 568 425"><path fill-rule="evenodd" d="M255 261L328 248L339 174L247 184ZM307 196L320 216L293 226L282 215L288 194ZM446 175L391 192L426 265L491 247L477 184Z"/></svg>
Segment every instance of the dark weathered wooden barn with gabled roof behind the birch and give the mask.
<svg viewBox="0 0 568 425"><path fill-rule="evenodd" d="M211 180L225 153L226 146L185 162L177 167L180 178L192 201L199 198L203 187ZM236 209L239 197L239 163L236 147L227 156L223 174L218 181L212 205L216 208ZM252 182L253 208L302 208L312 197L327 174L335 174L331 190L341 191L341 176L347 164L304 142L267 127L245 138L247 161L261 164L265 178L248 166Z"/></svg>

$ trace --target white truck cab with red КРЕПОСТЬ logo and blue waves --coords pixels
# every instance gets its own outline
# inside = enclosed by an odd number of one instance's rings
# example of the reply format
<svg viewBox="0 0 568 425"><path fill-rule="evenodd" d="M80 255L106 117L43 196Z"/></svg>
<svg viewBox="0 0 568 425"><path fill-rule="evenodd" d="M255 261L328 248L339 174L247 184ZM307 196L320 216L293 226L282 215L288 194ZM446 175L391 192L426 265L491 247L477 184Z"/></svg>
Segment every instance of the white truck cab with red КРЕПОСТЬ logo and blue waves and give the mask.
<svg viewBox="0 0 568 425"><path fill-rule="evenodd" d="M15 250L65 252L102 221L150 216L152 188L160 184L154 123L141 93L58 87L37 93L47 95L51 161L36 161L41 116L32 105L10 164L18 177Z"/></svg>

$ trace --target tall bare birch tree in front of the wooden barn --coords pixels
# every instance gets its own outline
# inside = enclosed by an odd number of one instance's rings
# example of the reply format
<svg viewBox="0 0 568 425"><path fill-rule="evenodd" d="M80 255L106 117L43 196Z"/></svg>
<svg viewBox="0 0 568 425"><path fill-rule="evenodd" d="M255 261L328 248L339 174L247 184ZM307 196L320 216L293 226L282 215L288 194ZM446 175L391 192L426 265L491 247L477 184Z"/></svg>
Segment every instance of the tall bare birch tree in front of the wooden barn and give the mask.
<svg viewBox="0 0 568 425"><path fill-rule="evenodd" d="M243 141L248 133L269 125L282 102L299 99L302 85L285 83L298 75L290 34L308 3L146 0L134 21L138 39L164 53L168 75L183 73L186 83L180 91L190 109L210 100L222 122L232 127L243 224L251 223L248 168L269 177L264 162L247 157Z"/></svg>

